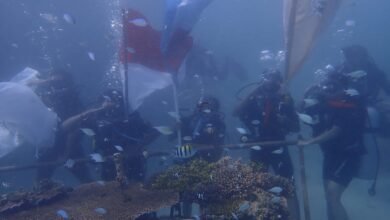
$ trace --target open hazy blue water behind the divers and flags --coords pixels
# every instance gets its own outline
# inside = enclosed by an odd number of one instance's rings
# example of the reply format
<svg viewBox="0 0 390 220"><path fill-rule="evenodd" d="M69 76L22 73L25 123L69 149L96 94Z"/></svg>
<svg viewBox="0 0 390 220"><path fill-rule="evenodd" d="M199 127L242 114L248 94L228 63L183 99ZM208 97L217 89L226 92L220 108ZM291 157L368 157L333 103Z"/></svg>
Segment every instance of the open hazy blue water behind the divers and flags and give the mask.
<svg viewBox="0 0 390 220"><path fill-rule="evenodd" d="M128 1L130 7L148 17L154 28L161 29L163 0ZM261 61L261 51L276 53L283 50L282 2L215 0L204 10L191 32L197 45L213 52L219 66L222 66L226 57L230 57L248 72L245 80L240 81L230 76L227 80L202 84L207 93L214 94L221 101L226 114L227 133L230 134L226 140L228 143L238 141L236 127L240 123L231 116L232 108L237 103L236 91L243 85L258 80L262 69L275 65L275 62ZM90 105L104 88L120 85L117 81L117 68L121 4L119 0L0 0L0 81L8 81L27 66L42 72L53 68L65 69L72 73L83 103ZM297 102L305 89L315 82L313 73L317 69L341 61L339 48L344 45L358 43L366 46L377 65L389 73L389 10L390 3L386 0L345 0L290 85L289 89ZM43 14L50 14L56 19L50 22L43 18ZM75 24L66 23L64 14L71 15ZM346 26L346 21L353 21L355 25ZM344 31L339 31L341 29ZM88 52L94 53L95 61L88 57ZM167 112L174 111L171 93L170 89L166 89L147 99L140 109L142 116L155 126L173 125L174 121L167 115ZM196 95L186 95L186 91L179 93L180 107L192 108ZM197 88L194 94L199 93ZM169 105L161 105L161 100L166 100ZM156 109L160 111L156 112ZM302 132L307 134L308 131L303 128ZM377 195L368 196L368 182L354 180L343 196L350 219L389 219L390 192L387 186L390 184L390 163L386 160L390 155L390 150L386 148L389 141L380 139L379 143L383 159ZM168 144L169 142L160 138L148 148L156 149ZM297 149L290 150L297 168ZM326 211L321 179L321 152L319 148L313 147L308 148L305 153L312 219L323 220L326 219ZM237 157L247 158L247 153L242 152ZM32 163L34 154L32 151L15 154L10 158L0 159L0 165L19 159ZM150 161L149 166L150 173L161 170L158 161ZM94 176L97 178L97 174ZM70 185L77 184L77 180L63 169L57 171L55 179ZM0 181L9 183L11 189L29 187L34 181L34 173L23 171L0 174ZM297 188L300 194L299 181Z"/></svg>

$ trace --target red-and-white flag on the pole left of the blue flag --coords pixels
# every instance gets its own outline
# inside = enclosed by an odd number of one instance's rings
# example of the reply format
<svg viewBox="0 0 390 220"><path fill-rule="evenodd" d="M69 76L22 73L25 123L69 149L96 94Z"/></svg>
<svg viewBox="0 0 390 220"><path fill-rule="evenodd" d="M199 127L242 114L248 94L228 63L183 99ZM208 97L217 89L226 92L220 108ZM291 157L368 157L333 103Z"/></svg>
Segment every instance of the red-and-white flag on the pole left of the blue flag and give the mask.
<svg viewBox="0 0 390 220"><path fill-rule="evenodd" d="M125 96L132 110L136 110L153 92L173 84L172 74L178 72L193 44L192 38L183 38L183 34L175 32L173 39L178 40L168 53L163 54L161 31L153 29L141 13L132 9L124 12L121 60Z"/></svg>

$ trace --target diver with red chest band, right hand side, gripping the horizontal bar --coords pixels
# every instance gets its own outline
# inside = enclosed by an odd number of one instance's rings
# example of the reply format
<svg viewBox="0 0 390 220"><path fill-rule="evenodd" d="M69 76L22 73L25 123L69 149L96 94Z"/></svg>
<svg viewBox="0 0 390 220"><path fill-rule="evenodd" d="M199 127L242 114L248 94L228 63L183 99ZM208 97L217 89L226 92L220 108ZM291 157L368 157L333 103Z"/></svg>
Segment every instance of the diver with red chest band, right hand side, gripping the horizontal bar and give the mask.
<svg viewBox="0 0 390 220"><path fill-rule="evenodd" d="M304 122L312 128L312 139L298 146L319 144L323 152L323 181L329 220L348 219L341 196L357 176L366 150L363 134L366 123L365 97L354 92L347 76L330 72L304 96Z"/></svg>

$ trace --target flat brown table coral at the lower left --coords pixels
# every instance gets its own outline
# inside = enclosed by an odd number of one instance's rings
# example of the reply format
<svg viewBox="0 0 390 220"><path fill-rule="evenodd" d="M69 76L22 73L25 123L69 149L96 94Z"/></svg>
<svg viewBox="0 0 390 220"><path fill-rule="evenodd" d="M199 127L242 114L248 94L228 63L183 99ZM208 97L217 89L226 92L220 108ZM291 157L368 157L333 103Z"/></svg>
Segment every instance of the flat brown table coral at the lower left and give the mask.
<svg viewBox="0 0 390 220"><path fill-rule="evenodd" d="M178 200L177 193L147 190L140 184L129 184L122 189L116 181L95 182L75 188L61 200L4 214L0 219L61 219L57 214L59 211L66 213L69 219L136 219L145 213L170 207Z"/></svg>

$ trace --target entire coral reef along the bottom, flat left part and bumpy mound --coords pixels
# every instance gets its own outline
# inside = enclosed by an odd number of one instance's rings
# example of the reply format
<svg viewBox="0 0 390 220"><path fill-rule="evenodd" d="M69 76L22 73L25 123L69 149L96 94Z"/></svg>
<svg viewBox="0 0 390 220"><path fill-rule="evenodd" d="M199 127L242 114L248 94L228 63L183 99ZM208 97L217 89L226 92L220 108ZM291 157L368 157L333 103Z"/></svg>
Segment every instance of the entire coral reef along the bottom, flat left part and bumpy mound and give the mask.
<svg viewBox="0 0 390 220"><path fill-rule="evenodd" d="M294 190L292 184L261 168L229 157L215 163L196 159L175 165L142 185L129 183L117 166L116 181L69 188L45 180L32 191L4 194L0 217L142 219L187 201L199 204L202 219L289 219L287 198Z"/></svg>

